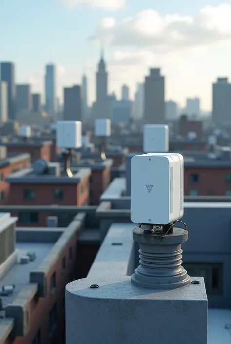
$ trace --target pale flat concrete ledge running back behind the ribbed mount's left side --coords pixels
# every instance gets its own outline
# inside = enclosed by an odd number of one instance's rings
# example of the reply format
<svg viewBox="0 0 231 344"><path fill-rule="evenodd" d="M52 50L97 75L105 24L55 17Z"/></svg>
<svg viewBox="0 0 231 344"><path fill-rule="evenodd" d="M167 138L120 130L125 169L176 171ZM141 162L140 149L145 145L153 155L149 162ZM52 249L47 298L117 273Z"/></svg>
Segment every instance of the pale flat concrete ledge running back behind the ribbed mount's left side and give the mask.
<svg viewBox="0 0 231 344"><path fill-rule="evenodd" d="M96 255L96 259L88 273L88 277L127 275L133 245L133 223L113 223Z"/></svg>

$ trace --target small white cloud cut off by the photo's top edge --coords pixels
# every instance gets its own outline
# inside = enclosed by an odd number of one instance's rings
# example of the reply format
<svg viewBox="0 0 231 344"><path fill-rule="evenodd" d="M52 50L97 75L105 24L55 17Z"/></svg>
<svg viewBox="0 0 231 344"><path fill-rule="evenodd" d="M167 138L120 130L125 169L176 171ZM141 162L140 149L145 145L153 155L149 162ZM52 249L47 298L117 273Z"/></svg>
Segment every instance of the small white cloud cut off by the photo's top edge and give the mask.
<svg viewBox="0 0 231 344"><path fill-rule="evenodd" d="M125 6L125 0L61 0L69 6L75 7L81 3L88 3L95 8L102 8L108 11L116 11Z"/></svg>

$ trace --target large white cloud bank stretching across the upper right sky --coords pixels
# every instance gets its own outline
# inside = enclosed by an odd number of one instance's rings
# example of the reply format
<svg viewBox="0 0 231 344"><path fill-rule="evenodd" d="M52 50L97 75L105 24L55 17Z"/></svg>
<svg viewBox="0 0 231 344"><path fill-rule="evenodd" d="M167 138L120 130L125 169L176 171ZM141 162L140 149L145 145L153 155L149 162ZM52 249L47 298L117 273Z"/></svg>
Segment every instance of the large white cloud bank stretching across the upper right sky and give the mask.
<svg viewBox="0 0 231 344"><path fill-rule="evenodd" d="M211 45L231 39L231 5L206 6L194 17L179 14L161 17L147 9L120 23L114 21L111 26L107 20L101 20L92 39L115 46L154 47L155 52Z"/></svg>

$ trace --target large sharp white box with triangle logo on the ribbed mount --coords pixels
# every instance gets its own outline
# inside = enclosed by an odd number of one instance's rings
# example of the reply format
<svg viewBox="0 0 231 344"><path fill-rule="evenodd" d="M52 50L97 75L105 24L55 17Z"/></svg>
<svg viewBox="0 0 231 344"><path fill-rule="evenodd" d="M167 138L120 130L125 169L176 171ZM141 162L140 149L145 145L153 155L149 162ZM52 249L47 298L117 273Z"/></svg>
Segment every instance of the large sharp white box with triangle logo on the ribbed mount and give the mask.
<svg viewBox="0 0 231 344"><path fill-rule="evenodd" d="M149 153L131 159L131 220L164 225L184 213L184 164L177 153Z"/></svg>

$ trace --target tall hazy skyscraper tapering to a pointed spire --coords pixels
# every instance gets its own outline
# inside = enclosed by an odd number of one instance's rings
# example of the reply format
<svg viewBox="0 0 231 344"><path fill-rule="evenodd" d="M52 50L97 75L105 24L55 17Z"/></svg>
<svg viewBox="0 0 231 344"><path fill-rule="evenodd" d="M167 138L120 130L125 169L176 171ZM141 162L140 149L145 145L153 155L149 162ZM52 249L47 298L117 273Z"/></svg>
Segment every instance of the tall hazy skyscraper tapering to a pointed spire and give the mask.
<svg viewBox="0 0 231 344"><path fill-rule="evenodd" d="M96 73L96 118L107 118L108 73L104 61L103 51Z"/></svg>

